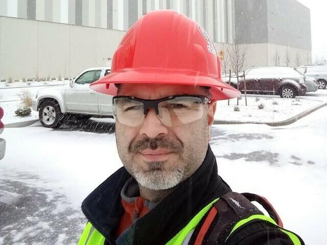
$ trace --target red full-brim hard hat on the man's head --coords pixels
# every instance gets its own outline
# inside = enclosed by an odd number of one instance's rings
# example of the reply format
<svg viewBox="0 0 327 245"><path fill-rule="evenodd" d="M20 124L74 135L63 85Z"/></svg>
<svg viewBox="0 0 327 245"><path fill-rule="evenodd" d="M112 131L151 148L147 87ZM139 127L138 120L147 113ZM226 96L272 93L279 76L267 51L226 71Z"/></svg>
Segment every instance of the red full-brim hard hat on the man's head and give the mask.
<svg viewBox="0 0 327 245"><path fill-rule="evenodd" d="M137 20L113 55L110 74L90 86L116 95L114 84L122 83L207 86L213 100L240 96L221 81L220 60L208 34L173 10L152 11Z"/></svg>

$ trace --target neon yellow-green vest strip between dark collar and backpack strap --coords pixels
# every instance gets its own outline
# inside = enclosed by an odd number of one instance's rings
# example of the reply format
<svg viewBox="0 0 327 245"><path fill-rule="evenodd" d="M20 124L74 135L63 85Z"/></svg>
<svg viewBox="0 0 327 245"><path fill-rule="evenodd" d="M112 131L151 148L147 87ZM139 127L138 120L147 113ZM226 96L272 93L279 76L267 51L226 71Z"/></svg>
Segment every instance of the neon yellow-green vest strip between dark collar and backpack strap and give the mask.
<svg viewBox="0 0 327 245"><path fill-rule="evenodd" d="M166 245L181 245L184 241L185 237L192 231L200 222L202 217L211 209L213 204L217 202L219 198L215 199L207 206L205 206L200 212L198 212L189 222L187 226L185 226L181 231L179 231Z"/></svg>

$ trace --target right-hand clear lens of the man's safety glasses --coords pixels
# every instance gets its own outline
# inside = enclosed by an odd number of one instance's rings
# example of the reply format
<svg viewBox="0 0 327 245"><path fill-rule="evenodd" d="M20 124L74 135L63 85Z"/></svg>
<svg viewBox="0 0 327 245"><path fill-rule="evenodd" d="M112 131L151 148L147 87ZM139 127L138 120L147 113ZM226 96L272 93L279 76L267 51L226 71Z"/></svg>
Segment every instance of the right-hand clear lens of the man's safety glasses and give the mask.
<svg viewBox="0 0 327 245"><path fill-rule="evenodd" d="M203 104L200 98L181 96L158 104L159 118L162 124L176 127L200 119Z"/></svg>

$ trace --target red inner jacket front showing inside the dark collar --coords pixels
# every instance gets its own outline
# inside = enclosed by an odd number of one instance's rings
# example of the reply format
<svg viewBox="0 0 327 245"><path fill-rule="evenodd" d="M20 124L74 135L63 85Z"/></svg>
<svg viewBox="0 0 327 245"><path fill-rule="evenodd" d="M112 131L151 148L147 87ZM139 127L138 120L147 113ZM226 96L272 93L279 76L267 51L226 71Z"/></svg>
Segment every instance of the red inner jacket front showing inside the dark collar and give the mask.
<svg viewBox="0 0 327 245"><path fill-rule="evenodd" d="M125 212L122 215L120 224L116 231L116 236L119 237L130 225L135 218L140 218L149 212L149 209L144 206L145 199L137 197L135 202L129 203L122 199L122 204Z"/></svg>

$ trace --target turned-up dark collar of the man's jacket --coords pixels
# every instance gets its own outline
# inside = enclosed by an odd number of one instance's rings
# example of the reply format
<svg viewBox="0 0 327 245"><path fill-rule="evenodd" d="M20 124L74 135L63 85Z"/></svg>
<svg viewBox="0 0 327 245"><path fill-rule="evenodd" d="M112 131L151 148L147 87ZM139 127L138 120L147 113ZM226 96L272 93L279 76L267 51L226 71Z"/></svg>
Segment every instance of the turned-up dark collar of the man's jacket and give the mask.
<svg viewBox="0 0 327 245"><path fill-rule="evenodd" d="M195 173L180 183L149 213L138 218L116 240L117 244L166 243L184 228L204 206L231 191L218 176L216 158L208 146L205 159ZM120 168L82 203L82 210L89 222L115 244L115 229L124 212L121 190L131 176Z"/></svg>

